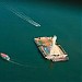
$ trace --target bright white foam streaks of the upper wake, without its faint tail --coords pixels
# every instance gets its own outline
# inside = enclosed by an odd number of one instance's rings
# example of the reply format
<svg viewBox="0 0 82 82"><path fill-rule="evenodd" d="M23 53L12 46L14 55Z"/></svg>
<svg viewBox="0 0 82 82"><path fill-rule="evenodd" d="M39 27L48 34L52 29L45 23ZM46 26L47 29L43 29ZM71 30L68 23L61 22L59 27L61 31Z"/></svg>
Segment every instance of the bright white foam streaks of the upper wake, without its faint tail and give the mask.
<svg viewBox="0 0 82 82"><path fill-rule="evenodd" d="M21 19L27 21L28 23L33 24L34 26L40 26L40 24L36 23L36 22L35 22L34 20L32 20L30 16L26 16L23 12L21 13L21 12L17 12L16 10L10 9L10 8L9 8L9 10L10 10L11 12L13 12L15 15L17 15L19 17L21 17Z"/></svg>

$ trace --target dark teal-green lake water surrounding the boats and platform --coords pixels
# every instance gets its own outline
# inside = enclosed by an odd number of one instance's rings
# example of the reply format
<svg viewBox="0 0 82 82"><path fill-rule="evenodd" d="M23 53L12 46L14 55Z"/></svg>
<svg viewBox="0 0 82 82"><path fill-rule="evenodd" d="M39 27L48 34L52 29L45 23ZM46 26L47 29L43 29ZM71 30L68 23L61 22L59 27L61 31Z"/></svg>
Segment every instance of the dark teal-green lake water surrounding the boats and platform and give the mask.
<svg viewBox="0 0 82 82"><path fill-rule="evenodd" d="M10 7L32 17L40 26L36 27L19 17L8 10ZM1 2L0 52L31 67L16 66L0 58L0 82L81 82L80 17L80 9L71 5ZM69 61L52 63L42 57L34 38L52 35L57 35L57 42L69 55Z"/></svg>

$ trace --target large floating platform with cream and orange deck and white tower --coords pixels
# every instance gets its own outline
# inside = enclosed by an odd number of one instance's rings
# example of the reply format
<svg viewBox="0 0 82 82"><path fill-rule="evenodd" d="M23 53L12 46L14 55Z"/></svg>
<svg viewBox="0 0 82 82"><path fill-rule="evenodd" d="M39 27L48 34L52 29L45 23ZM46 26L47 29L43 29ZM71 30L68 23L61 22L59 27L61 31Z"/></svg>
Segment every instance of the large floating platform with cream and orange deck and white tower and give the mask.
<svg viewBox="0 0 82 82"><path fill-rule="evenodd" d="M67 61L69 60L68 54L65 49L57 43L57 36L54 37L36 37L34 38L38 49L43 56L51 61Z"/></svg>

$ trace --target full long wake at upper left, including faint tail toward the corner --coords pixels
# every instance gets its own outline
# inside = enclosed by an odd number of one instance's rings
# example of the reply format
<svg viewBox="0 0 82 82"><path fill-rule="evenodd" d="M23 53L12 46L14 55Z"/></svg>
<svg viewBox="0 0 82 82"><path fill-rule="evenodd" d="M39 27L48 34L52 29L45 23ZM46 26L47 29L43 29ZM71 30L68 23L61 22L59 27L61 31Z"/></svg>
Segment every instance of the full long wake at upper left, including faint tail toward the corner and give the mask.
<svg viewBox="0 0 82 82"><path fill-rule="evenodd" d="M34 25L34 26L40 26L40 24L38 24L37 22L35 22L33 19L31 19L30 16L25 15L23 12L19 12L16 9L13 9L12 7L10 7L8 3L1 3L3 7L5 7L7 10L11 11L12 13L14 13L16 16L21 17L22 20L28 22L30 24Z"/></svg>

